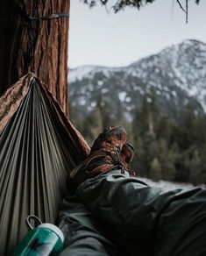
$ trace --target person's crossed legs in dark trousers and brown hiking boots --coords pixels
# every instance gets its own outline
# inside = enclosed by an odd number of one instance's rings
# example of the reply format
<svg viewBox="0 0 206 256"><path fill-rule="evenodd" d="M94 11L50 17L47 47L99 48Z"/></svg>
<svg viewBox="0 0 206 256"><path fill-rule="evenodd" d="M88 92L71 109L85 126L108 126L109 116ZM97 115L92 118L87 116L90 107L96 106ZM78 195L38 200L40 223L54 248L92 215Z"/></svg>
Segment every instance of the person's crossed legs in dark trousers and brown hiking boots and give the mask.
<svg viewBox="0 0 206 256"><path fill-rule="evenodd" d="M69 174L60 255L206 255L206 189L166 191L139 181L126 139L124 127L106 129Z"/></svg>

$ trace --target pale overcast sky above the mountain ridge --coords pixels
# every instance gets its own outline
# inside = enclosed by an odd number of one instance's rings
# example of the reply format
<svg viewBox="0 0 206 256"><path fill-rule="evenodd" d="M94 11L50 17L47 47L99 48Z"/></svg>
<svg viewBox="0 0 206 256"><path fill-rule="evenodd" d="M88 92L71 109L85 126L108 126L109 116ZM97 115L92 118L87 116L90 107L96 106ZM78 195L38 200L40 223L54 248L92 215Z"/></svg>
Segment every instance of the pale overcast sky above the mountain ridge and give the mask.
<svg viewBox="0 0 206 256"><path fill-rule="evenodd" d="M188 2L186 24L176 0L156 0L140 11L125 8L117 14L112 10L108 14L103 6L89 9L80 0L71 0L69 67L127 66L183 39L206 42L206 1L194 3Z"/></svg>

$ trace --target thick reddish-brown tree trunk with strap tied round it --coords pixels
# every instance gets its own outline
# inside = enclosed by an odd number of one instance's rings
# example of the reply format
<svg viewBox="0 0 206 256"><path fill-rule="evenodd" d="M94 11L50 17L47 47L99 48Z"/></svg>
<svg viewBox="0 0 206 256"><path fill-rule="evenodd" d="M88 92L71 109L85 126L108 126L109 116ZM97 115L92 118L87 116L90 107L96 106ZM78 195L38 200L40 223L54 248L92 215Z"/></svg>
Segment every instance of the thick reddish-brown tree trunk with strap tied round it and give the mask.
<svg viewBox="0 0 206 256"><path fill-rule="evenodd" d="M0 95L27 72L34 72L45 82L68 113L67 103L67 42L68 18L32 21L33 58L28 61L28 23L17 3L31 17L46 17L69 11L69 0L3 0L0 1ZM22 9L21 8L21 9Z"/></svg>

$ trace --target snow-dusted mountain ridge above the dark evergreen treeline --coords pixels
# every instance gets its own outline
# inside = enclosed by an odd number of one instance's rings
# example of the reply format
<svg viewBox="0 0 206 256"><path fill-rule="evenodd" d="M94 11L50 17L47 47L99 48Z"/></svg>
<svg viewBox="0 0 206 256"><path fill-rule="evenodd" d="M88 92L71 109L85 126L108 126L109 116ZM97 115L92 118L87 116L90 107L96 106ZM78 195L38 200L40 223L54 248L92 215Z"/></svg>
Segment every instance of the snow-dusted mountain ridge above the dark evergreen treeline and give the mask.
<svg viewBox="0 0 206 256"><path fill-rule="evenodd" d="M178 116L188 103L205 112L206 44L184 40L123 68L71 69L68 82L70 103L83 114L93 110L101 96L113 115L120 108L125 117L132 118L143 99L150 101L152 95L163 115Z"/></svg>

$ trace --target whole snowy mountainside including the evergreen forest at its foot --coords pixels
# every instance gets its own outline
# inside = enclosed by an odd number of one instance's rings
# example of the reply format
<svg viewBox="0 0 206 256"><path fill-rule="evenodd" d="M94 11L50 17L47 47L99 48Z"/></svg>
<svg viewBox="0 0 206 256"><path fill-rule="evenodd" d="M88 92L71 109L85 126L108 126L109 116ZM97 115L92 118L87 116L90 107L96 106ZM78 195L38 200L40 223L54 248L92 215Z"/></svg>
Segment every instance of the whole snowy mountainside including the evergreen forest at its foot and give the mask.
<svg viewBox="0 0 206 256"><path fill-rule="evenodd" d="M124 125L140 176L206 183L206 44L185 40L123 68L69 73L71 119L91 144Z"/></svg>

